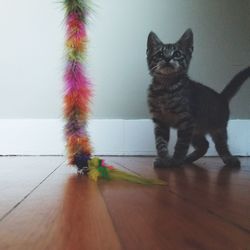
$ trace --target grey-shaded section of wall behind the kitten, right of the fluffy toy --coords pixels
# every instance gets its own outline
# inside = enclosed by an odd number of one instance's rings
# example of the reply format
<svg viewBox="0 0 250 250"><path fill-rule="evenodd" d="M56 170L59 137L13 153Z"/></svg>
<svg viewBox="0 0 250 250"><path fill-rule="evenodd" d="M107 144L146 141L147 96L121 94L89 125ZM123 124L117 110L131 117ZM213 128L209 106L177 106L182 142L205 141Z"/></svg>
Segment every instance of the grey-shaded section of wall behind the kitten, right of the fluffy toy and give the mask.
<svg viewBox="0 0 250 250"><path fill-rule="evenodd" d="M194 31L191 76L220 91L249 65L250 15L245 0L99 0L90 25L90 73L98 118L144 118L150 78L146 39L154 30L174 42ZM250 117L250 81L232 105L234 118Z"/></svg>

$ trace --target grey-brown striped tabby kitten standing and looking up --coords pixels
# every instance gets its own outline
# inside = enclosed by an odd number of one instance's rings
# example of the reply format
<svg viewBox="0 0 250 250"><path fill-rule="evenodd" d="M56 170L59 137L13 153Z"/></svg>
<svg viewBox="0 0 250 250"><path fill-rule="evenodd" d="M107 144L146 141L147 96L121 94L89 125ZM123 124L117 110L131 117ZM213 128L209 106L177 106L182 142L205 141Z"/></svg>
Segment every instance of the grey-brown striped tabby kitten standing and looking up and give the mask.
<svg viewBox="0 0 250 250"><path fill-rule="evenodd" d="M188 67L193 52L193 32L188 29L176 43L164 44L151 32L147 62L152 83L148 104L155 124L157 158L155 167L192 163L206 154L210 134L227 166L240 167L227 145L229 101L250 76L250 67L239 72L221 93L191 80ZM170 127L177 129L174 155L168 154ZM194 151L187 155L189 145Z"/></svg>

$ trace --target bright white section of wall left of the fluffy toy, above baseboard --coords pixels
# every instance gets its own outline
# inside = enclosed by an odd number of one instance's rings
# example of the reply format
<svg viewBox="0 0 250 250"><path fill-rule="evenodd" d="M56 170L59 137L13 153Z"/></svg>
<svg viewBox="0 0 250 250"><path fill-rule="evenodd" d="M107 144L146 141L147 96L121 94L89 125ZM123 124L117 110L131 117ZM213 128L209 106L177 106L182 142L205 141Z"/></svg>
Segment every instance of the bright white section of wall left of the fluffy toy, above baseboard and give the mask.
<svg viewBox="0 0 250 250"><path fill-rule="evenodd" d="M62 21L59 1L0 0L0 118L60 116Z"/></svg>

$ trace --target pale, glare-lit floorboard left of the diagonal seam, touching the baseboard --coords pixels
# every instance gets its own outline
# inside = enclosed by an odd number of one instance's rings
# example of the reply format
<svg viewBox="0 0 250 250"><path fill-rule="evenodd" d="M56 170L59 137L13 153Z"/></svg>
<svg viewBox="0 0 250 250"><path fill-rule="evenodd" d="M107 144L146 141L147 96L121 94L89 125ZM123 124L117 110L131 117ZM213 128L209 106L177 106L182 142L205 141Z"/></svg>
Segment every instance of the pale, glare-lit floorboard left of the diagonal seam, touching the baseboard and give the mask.
<svg viewBox="0 0 250 250"><path fill-rule="evenodd" d="M61 156L0 157L0 219L63 161Z"/></svg>

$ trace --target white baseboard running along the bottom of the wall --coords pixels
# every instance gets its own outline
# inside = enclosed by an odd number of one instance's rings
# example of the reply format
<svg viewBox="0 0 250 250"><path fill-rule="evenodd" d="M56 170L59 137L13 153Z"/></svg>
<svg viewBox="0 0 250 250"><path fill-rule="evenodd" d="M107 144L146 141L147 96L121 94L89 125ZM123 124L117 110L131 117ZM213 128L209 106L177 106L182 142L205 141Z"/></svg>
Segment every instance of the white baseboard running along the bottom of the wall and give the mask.
<svg viewBox="0 0 250 250"><path fill-rule="evenodd" d="M0 119L0 155L65 154L63 124L60 119ZM96 155L155 155L150 119L94 119L88 131ZM232 153L249 156L250 120L231 120L228 134ZM171 131L170 152L175 141ZM207 155L217 155L211 140Z"/></svg>

